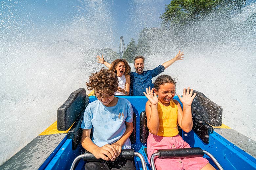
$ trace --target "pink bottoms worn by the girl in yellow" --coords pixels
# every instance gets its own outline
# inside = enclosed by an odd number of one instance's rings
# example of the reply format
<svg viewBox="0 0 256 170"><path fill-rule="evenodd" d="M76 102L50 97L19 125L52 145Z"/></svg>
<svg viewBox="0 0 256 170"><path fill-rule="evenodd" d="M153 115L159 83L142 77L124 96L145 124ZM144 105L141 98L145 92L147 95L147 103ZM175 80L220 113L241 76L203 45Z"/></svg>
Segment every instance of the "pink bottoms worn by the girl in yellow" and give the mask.
<svg viewBox="0 0 256 170"><path fill-rule="evenodd" d="M162 137L149 133L147 140L148 162L150 162L151 155L156 153L158 149L174 149L174 148L188 148L188 143L184 142L180 135L174 137ZM203 157L196 158L178 158L178 159L155 159L157 170L200 170L209 161Z"/></svg>

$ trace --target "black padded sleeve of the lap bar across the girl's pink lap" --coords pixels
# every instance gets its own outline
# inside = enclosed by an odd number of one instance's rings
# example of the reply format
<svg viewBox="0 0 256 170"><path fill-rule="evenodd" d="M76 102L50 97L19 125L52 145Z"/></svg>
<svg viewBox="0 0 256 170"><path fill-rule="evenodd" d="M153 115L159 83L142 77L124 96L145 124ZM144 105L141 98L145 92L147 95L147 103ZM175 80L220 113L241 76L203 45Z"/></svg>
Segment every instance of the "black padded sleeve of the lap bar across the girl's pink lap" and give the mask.
<svg viewBox="0 0 256 170"><path fill-rule="evenodd" d="M200 147L190 147L181 149L160 149L159 159L164 158L194 158L203 157L204 153Z"/></svg>

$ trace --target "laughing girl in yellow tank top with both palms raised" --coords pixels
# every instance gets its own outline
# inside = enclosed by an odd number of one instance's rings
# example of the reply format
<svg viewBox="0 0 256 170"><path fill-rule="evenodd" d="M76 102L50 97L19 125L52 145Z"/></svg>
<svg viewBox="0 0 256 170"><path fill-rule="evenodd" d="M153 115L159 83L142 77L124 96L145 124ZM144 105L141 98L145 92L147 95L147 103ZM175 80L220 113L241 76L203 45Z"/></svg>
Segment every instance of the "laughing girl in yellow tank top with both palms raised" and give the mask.
<svg viewBox="0 0 256 170"><path fill-rule="evenodd" d="M150 131L147 140L148 160L158 149L186 148L189 144L178 135L178 124L184 132L190 132L193 127L191 104L196 96L193 89L189 92L183 89L183 96L178 94L183 104L183 110L175 95L176 82L167 75L159 76L154 88L146 88L144 95L146 103L147 126ZM150 162L150 161L149 161ZM203 157L184 159L156 159L157 169L190 169L214 170L215 168ZM172 166L170 166L172 165Z"/></svg>

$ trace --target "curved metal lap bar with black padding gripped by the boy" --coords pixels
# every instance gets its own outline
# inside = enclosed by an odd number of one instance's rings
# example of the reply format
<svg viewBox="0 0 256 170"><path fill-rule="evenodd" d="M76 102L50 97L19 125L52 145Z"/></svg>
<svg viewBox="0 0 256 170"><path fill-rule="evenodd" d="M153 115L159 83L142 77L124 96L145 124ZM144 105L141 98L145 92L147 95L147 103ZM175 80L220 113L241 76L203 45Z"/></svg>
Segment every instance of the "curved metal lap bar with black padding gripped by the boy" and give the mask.
<svg viewBox="0 0 256 170"><path fill-rule="evenodd" d="M123 158L125 158L125 157L127 157L127 156L129 156L129 157L137 156L137 157L139 157L139 159L140 159L140 161L141 161L142 169L143 169L143 170L146 170L146 169L147 169L147 166L146 166L146 162L145 162L143 156L142 156L139 152L131 152L131 150L133 150L133 149L124 149L124 150L122 150L121 153L120 153L120 155L119 155L117 158L121 157L121 159L123 159ZM132 155L128 155L127 153L132 153ZM86 155L86 156L85 156L85 155ZM75 167L76 162L78 162L80 159L84 159L84 160L85 160L85 159L86 159L85 157L86 157L86 158L90 158L90 160L98 160L98 159L96 159L96 158L94 157L94 155L93 155L92 153L86 152L85 154L81 154L81 155L79 155L79 156L77 156L77 157L75 158L75 160L72 162L72 165L71 165L71 167L70 167L70 170L74 170L74 167ZM95 159L94 159L94 158L95 158Z"/></svg>

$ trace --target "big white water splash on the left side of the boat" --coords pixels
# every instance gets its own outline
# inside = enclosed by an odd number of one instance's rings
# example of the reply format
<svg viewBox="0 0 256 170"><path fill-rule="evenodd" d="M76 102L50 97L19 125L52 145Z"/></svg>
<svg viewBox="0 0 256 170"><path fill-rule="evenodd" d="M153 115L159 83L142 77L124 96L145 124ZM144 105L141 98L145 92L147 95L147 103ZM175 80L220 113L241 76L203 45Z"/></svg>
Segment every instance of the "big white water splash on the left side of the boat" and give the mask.
<svg viewBox="0 0 256 170"><path fill-rule="evenodd" d="M88 14L79 10L70 20L50 22L20 18L23 1L1 2L0 164L56 121L70 93L86 88L100 68L95 49L113 46L111 11L95 3L84 9Z"/></svg>

